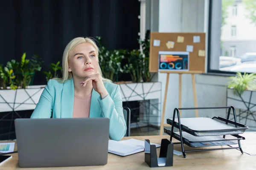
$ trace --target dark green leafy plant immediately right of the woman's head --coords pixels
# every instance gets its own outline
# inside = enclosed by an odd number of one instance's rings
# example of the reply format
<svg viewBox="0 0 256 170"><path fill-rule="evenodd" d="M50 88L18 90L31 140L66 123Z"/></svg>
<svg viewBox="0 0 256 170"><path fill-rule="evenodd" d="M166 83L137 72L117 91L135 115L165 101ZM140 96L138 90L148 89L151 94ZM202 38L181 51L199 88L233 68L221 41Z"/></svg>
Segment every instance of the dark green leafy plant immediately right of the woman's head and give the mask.
<svg viewBox="0 0 256 170"><path fill-rule="evenodd" d="M105 78L113 82L118 81L118 74L123 72L121 62L126 53L125 50L107 50L102 46L102 38L96 37L99 43L99 65Z"/></svg>

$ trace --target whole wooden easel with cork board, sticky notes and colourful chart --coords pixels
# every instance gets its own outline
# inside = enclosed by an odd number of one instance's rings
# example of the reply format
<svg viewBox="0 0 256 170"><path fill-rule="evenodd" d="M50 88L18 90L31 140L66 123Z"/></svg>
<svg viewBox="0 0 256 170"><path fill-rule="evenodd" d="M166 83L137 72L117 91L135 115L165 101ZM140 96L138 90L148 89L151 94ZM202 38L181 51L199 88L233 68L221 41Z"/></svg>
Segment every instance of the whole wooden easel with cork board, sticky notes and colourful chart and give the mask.
<svg viewBox="0 0 256 170"><path fill-rule="evenodd" d="M195 90L195 74L205 72L205 56L205 33L151 32L149 71L167 73L160 135L163 134L163 127L169 126L163 123L169 86L169 74L179 74L179 108L181 108L182 102L181 76L182 74L192 75L194 104L196 108L198 104ZM198 110L195 110L195 116L198 117Z"/></svg>

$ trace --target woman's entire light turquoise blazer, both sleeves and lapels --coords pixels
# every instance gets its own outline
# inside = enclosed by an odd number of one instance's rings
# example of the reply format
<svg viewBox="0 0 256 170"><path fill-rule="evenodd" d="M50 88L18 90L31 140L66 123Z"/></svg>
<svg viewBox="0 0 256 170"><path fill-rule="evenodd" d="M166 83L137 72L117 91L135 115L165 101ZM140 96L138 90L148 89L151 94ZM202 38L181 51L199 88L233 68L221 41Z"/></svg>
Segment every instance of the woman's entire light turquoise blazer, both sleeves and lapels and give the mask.
<svg viewBox="0 0 256 170"><path fill-rule="evenodd" d="M119 85L104 82L108 96L101 99L98 92L92 92L90 116L110 119L109 138L119 141L126 132L126 123L122 108L122 97ZM50 79L40 96L31 118L72 118L74 105L73 78L59 83Z"/></svg>

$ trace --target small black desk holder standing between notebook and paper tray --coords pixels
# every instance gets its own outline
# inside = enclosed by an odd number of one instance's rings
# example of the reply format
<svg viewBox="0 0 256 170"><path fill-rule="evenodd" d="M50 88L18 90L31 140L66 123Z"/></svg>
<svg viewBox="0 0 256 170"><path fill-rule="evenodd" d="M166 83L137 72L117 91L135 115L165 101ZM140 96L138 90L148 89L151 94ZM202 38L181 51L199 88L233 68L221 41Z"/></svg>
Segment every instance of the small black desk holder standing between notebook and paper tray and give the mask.
<svg viewBox="0 0 256 170"><path fill-rule="evenodd" d="M149 167L172 167L173 143L168 139L162 139L159 158L157 158L156 145L150 144L150 141L145 139L145 162Z"/></svg>

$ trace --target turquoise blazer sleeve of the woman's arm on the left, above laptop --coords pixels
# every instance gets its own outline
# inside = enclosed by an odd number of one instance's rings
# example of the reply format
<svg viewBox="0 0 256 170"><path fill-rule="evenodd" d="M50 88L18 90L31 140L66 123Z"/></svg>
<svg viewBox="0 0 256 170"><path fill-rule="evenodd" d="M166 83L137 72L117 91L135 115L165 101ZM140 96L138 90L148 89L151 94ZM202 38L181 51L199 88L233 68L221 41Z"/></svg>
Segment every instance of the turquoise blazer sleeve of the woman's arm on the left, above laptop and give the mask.
<svg viewBox="0 0 256 170"><path fill-rule="evenodd" d="M32 119L33 118L34 119L51 118L51 116L52 116L52 95L51 95L51 80L49 80L30 118Z"/></svg>

